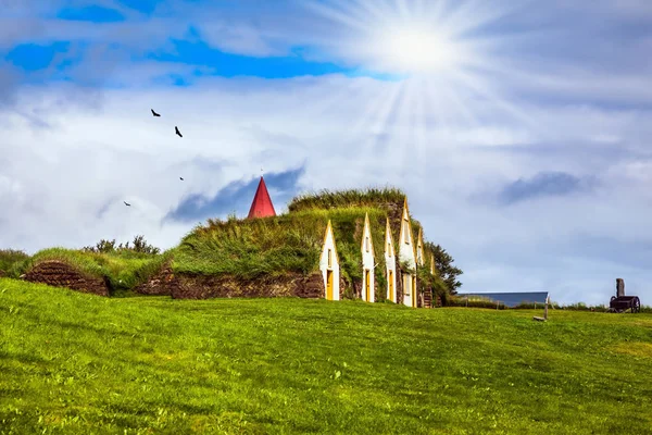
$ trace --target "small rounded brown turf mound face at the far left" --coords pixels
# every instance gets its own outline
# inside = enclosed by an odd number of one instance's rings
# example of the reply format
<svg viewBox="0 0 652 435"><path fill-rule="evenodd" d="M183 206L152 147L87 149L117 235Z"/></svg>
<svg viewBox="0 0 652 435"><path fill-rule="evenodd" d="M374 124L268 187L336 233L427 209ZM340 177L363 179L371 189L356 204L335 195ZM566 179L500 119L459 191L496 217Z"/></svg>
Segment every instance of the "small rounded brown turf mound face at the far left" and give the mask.
<svg viewBox="0 0 652 435"><path fill-rule="evenodd" d="M85 275L61 261L43 261L27 272L24 279L99 296L110 295L108 279Z"/></svg>

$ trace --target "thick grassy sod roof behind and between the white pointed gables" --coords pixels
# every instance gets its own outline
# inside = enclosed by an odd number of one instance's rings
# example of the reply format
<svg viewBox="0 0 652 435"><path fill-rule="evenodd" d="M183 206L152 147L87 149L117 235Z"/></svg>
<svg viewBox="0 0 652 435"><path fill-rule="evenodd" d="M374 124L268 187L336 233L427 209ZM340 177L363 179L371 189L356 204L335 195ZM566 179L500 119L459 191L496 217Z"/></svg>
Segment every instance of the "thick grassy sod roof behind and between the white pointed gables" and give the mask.
<svg viewBox="0 0 652 435"><path fill-rule="evenodd" d="M319 266L324 234L331 222L342 276L362 278L362 236L368 213L376 269L385 270L385 228L389 217L399 241L405 195L399 189L366 189L305 194L292 199L278 216L209 220L175 248L173 270L190 274L230 274L241 278L309 274ZM413 222L414 238L421 224ZM416 231L415 231L416 229Z"/></svg>

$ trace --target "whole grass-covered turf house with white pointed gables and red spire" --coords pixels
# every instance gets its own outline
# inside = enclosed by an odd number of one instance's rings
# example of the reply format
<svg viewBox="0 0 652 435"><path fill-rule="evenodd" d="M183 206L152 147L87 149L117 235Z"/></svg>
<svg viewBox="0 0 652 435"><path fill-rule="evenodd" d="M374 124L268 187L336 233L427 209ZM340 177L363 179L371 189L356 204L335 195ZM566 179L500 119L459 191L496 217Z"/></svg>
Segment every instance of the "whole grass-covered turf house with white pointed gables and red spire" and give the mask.
<svg viewBox="0 0 652 435"><path fill-rule="evenodd" d="M51 248L13 274L101 296L302 297L430 308L438 276L426 246L401 190L305 194L276 214L261 177L246 219L209 219L163 253L113 245Z"/></svg>

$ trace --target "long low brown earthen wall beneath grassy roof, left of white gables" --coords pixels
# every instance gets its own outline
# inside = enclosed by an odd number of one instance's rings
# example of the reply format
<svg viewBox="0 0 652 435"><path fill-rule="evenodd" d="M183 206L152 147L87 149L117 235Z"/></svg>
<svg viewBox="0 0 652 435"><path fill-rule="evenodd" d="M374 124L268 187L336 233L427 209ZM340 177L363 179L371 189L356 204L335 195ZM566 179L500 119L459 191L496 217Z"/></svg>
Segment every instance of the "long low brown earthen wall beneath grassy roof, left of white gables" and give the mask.
<svg viewBox="0 0 652 435"><path fill-rule="evenodd" d="M238 279L225 275L176 274L170 281L170 288L175 299L323 298L325 294L324 278L319 272L309 276L293 273L274 277L263 276L256 279Z"/></svg>

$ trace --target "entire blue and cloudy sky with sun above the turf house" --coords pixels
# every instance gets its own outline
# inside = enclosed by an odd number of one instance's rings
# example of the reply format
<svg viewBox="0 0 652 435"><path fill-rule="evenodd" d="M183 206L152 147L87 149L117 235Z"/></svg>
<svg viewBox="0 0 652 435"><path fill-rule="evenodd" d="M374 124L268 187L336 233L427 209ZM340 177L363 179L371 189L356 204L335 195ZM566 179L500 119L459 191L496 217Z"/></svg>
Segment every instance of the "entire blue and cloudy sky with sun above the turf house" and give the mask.
<svg viewBox="0 0 652 435"><path fill-rule="evenodd" d="M650 53L649 0L0 0L0 247L167 249L264 174L403 189L461 291L652 304Z"/></svg>

